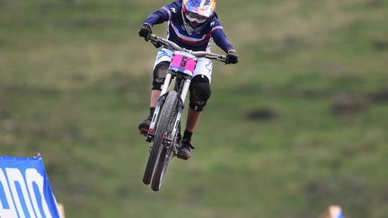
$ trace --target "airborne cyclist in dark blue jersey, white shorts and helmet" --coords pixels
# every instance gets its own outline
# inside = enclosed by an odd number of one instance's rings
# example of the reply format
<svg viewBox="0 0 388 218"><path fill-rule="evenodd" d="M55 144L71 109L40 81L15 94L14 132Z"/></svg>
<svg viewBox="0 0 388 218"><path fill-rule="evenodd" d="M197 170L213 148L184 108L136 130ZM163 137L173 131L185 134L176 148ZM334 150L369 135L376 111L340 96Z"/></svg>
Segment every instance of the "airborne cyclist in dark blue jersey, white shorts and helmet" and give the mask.
<svg viewBox="0 0 388 218"><path fill-rule="evenodd" d="M226 53L225 64L237 64L238 57L234 46L226 39L225 32L215 13L216 0L178 0L148 15L138 32L148 40L154 24L168 22L168 39L182 48L193 51L210 51L210 42L214 40ZM162 48L154 63L154 79L151 91L150 114L142 121L138 129L145 135L151 123L157 99L160 96L165 75L167 74L172 51ZM190 83L190 109L186 129L181 139L181 148L177 156L187 160L191 156L191 136L199 115L210 97L210 82L213 65L207 58L199 58Z"/></svg>

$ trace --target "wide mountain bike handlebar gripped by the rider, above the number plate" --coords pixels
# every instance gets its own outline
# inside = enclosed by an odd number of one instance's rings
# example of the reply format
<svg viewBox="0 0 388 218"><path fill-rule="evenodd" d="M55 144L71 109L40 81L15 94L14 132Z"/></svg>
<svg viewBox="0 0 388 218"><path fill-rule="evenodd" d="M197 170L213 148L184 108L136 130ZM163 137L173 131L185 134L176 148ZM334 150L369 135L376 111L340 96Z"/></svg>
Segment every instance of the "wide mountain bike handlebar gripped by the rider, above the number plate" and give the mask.
<svg viewBox="0 0 388 218"><path fill-rule="evenodd" d="M172 51L184 51L184 52L190 53L191 55L193 55L195 57L206 57L208 59L218 60L218 61L221 61L224 63L226 61L226 56L218 55L218 54L210 53L210 52L205 52L205 51L192 51L192 50L189 50L186 48L181 48L180 46L178 46L177 44L175 44L171 40L163 39L163 38L158 37L154 34L151 34L150 41L151 41L151 43L154 44L154 46L162 46L163 48L167 48L167 49L172 50Z"/></svg>

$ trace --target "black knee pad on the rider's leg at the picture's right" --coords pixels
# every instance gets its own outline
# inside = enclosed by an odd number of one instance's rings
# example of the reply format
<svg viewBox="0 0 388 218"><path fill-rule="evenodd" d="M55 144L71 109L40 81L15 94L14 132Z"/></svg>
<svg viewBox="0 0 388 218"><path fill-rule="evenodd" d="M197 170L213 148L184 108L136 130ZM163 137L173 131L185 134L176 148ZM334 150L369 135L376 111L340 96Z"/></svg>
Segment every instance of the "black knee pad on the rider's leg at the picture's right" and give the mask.
<svg viewBox="0 0 388 218"><path fill-rule="evenodd" d="M190 109L202 111L210 98L210 83L206 76L197 75L190 83Z"/></svg>

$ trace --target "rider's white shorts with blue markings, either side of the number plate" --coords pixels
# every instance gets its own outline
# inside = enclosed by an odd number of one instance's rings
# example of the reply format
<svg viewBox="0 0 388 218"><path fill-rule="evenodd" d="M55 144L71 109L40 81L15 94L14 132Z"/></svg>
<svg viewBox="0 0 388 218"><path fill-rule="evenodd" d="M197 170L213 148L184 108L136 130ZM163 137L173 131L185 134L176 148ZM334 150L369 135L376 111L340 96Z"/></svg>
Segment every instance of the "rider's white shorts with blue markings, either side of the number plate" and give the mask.
<svg viewBox="0 0 388 218"><path fill-rule="evenodd" d="M166 48L162 48L158 54L156 55L156 60L154 63L154 67L163 62L163 61L172 61L172 51ZM201 57L198 58L197 66L194 70L193 77L196 75L205 75L209 82L211 82L211 75L213 71L213 63L211 60Z"/></svg>

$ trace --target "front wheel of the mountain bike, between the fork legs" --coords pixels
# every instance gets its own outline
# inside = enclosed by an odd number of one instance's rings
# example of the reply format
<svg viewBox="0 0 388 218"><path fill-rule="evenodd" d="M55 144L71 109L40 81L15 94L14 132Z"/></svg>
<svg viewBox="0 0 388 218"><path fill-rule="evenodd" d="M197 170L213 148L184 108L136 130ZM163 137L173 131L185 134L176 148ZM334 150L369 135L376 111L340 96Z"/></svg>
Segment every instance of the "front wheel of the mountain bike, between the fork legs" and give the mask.
<svg viewBox="0 0 388 218"><path fill-rule="evenodd" d="M165 149L165 147L163 146L163 137L168 132L168 126L170 126L170 121L172 119L172 111L174 110L177 96L177 92L169 92L166 100L163 103L163 108L159 116L160 119L156 127L156 134L154 136L154 144L151 147L151 152L148 157L147 164L145 166L145 173L143 176L143 182L145 183L145 185L151 183L151 179L153 178L154 174L154 169L161 156L165 155L165 153L162 153L162 150ZM159 189L159 187L157 189Z"/></svg>

